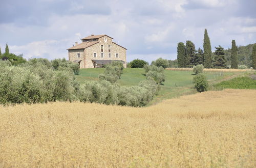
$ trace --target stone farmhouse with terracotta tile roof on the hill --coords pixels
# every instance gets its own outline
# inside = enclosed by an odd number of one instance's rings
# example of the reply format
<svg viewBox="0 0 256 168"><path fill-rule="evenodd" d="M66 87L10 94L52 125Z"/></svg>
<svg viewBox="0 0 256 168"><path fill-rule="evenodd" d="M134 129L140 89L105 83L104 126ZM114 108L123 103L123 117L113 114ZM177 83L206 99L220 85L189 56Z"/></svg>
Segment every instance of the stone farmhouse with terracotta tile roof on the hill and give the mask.
<svg viewBox="0 0 256 168"><path fill-rule="evenodd" d="M69 61L77 62L80 68L101 68L112 61L121 61L126 68L126 48L113 42L108 35L91 35L82 43L68 49Z"/></svg>

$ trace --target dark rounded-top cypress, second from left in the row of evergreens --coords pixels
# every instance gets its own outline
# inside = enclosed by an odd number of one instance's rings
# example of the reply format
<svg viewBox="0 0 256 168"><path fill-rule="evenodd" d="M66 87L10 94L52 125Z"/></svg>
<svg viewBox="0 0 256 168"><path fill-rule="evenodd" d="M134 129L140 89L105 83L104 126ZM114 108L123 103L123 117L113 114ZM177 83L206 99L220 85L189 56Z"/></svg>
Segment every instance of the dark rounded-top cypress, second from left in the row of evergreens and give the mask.
<svg viewBox="0 0 256 168"><path fill-rule="evenodd" d="M193 67L195 65L195 44L190 40L186 41L186 68Z"/></svg>

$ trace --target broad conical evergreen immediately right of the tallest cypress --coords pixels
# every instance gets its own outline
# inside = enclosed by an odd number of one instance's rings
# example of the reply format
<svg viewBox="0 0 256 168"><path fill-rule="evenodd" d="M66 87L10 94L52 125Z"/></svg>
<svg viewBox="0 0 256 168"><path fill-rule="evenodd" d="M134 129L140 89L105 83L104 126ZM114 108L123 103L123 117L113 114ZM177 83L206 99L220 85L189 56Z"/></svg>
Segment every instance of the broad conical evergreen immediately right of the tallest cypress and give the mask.
<svg viewBox="0 0 256 168"><path fill-rule="evenodd" d="M219 45L215 47L215 57L212 65L214 68L227 68L224 48Z"/></svg>

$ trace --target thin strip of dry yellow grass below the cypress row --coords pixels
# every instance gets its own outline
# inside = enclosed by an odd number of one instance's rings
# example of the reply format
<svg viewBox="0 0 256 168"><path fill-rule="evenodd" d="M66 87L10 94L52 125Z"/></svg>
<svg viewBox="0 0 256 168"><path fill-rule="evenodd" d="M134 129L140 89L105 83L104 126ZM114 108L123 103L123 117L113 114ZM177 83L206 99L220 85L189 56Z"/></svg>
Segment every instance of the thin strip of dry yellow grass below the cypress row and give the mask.
<svg viewBox="0 0 256 168"><path fill-rule="evenodd" d="M193 68L166 68L166 70L172 70L172 71L193 71ZM254 72L256 70L254 69L207 69L204 68L204 71L206 72Z"/></svg>

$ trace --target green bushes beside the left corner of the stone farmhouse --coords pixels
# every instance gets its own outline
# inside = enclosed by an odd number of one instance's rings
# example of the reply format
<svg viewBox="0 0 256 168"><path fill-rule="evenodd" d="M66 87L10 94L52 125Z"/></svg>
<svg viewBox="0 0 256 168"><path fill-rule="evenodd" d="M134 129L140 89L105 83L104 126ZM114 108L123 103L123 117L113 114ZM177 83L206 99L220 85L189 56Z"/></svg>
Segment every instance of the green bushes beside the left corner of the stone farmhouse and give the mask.
<svg viewBox="0 0 256 168"><path fill-rule="evenodd" d="M74 74L76 75L79 74L79 64L67 61L65 58L52 60L51 64L55 70L63 70L65 68L68 68L68 69L71 68Z"/></svg>

